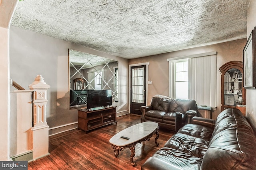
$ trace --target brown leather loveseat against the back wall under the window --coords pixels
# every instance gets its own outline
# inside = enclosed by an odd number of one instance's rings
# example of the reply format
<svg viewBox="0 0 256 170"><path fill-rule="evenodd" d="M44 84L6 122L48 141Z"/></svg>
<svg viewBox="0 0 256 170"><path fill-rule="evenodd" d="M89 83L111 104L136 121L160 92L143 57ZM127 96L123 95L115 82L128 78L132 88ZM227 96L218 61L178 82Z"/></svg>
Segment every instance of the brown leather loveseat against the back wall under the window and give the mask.
<svg viewBox="0 0 256 170"><path fill-rule="evenodd" d="M198 115L195 100L174 100L162 95L153 96L150 106L142 106L140 110L141 122L154 121L159 127L176 132Z"/></svg>

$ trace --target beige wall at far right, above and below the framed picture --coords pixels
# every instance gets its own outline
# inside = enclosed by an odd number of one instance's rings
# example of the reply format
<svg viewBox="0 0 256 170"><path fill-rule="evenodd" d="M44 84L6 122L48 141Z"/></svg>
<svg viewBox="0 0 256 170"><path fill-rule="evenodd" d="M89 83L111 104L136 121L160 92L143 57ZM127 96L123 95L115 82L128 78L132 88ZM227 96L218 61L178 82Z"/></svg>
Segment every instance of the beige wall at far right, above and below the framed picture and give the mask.
<svg viewBox="0 0 256 170"><path fill-rule="evenodd" d="M247 38L256 26L256 1L250 0L247 10ZM256 90L246 90L246 117L256 132Z"/></svg>

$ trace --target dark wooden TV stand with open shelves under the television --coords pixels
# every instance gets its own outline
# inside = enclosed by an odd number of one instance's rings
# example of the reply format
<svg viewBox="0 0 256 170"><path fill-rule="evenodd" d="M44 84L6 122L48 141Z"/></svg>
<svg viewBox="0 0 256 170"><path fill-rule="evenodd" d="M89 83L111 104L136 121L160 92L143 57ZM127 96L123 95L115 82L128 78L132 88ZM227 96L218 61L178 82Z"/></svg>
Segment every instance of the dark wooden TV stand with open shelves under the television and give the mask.
<svg viewBox="0 0 256 170"><path fill-rule="evenodd" d="M117 123L115 106L78 109L78 129L86 133L111 123Z"/></svg>

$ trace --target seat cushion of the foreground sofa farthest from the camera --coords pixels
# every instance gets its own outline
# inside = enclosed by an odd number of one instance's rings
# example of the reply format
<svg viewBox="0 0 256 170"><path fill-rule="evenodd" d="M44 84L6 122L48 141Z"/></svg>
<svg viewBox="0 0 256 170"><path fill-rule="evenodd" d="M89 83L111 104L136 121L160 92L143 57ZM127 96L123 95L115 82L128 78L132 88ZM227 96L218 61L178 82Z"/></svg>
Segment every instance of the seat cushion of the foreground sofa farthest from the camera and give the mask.
<svg viewBox="0 0 256 170"><path fill-rule="evenodd" d="M193 137L201 138L204 139L205 141L211 140L212 132L213 129L210 127L195 124L187 124L178 131L178 133L183 133Z"/></svg>

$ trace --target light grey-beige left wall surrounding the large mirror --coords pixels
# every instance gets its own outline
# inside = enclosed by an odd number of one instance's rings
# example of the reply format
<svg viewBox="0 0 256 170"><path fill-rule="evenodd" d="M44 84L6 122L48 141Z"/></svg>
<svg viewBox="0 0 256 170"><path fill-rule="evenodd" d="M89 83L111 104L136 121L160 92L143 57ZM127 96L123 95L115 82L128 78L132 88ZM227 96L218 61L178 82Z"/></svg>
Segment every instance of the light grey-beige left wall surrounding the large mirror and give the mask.
<svg viewBox="0 0 256 170"><path fill-rule="evenodd" d="M47 104L49 135L77 127L77 109L69 109L69 48L119 62L120 100L113 105L117 106L117 112L128 112L127 59L11 26L10 78L27 90L34 78L41 74L51 86Z"/></svg>

